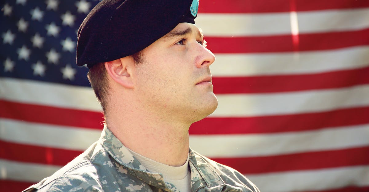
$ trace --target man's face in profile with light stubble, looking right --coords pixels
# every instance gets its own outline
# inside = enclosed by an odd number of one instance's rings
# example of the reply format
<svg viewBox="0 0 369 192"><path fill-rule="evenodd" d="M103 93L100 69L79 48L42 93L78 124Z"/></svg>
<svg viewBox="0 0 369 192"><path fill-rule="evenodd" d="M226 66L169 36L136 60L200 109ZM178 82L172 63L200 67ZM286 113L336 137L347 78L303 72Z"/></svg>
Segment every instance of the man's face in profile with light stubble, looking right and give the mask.
<svg viewBox="0 0 369 192"><path fill-rule="evenodd" d="M213 113L218 101L209 65L215 57L203 45L196 25L178 24L142 54L144 62L136 66L135 80L142 102L167 118L189 122Z"/></svg>

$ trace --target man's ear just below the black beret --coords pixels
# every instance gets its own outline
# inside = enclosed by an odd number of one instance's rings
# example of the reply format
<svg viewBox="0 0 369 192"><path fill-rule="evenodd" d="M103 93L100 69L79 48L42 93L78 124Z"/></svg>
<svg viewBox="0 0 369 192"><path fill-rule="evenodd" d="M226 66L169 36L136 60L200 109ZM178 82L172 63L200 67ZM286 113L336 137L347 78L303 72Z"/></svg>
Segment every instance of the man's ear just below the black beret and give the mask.
<svg viewBox="0 0 369 192"><path fill-rule="evenodd" d="M131 57L108 61L104 65L111 79L125 88L133 88L132 65L134 61Z"/></svg>

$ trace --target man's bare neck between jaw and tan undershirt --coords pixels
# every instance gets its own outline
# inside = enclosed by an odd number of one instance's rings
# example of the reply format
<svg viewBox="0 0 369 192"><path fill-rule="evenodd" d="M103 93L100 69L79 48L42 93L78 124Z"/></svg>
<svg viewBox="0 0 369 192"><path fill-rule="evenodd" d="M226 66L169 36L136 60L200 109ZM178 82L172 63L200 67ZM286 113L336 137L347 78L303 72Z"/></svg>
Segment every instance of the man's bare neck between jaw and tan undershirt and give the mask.
<svg viewBox="0 0 369 192"><path fill-rule="evenodd" d="M190 124L135 111L110 113L106 123L125 147L142 156L169 166L182 166L187 160Z"/></svg>

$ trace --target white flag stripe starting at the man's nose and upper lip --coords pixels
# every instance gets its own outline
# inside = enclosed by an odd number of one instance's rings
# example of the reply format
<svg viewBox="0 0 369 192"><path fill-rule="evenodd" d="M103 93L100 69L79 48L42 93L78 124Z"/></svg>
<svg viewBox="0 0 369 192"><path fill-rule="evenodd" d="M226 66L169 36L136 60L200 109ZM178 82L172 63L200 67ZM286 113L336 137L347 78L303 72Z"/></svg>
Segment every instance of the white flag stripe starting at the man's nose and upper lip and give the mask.
<svg viewBox="0 0 369 192"><path fill-rule="evenodd" d="M215 54L215 58L210 65L213 77L311 74L369 66L369 46L296 53Z"/></svg>

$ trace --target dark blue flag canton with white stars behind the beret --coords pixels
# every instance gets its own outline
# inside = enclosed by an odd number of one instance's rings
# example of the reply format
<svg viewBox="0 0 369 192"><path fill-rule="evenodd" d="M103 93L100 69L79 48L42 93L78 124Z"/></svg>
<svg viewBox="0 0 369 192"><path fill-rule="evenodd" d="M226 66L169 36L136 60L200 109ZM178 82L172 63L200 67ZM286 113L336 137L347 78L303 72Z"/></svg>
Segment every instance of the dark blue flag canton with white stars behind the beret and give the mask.
<svg viewBox="0 0 369 192"><path fill-rule="evenodd" d="M77 31L100 1L8 0L1 5L1 77L89 86L75 64Z"/></svg>

